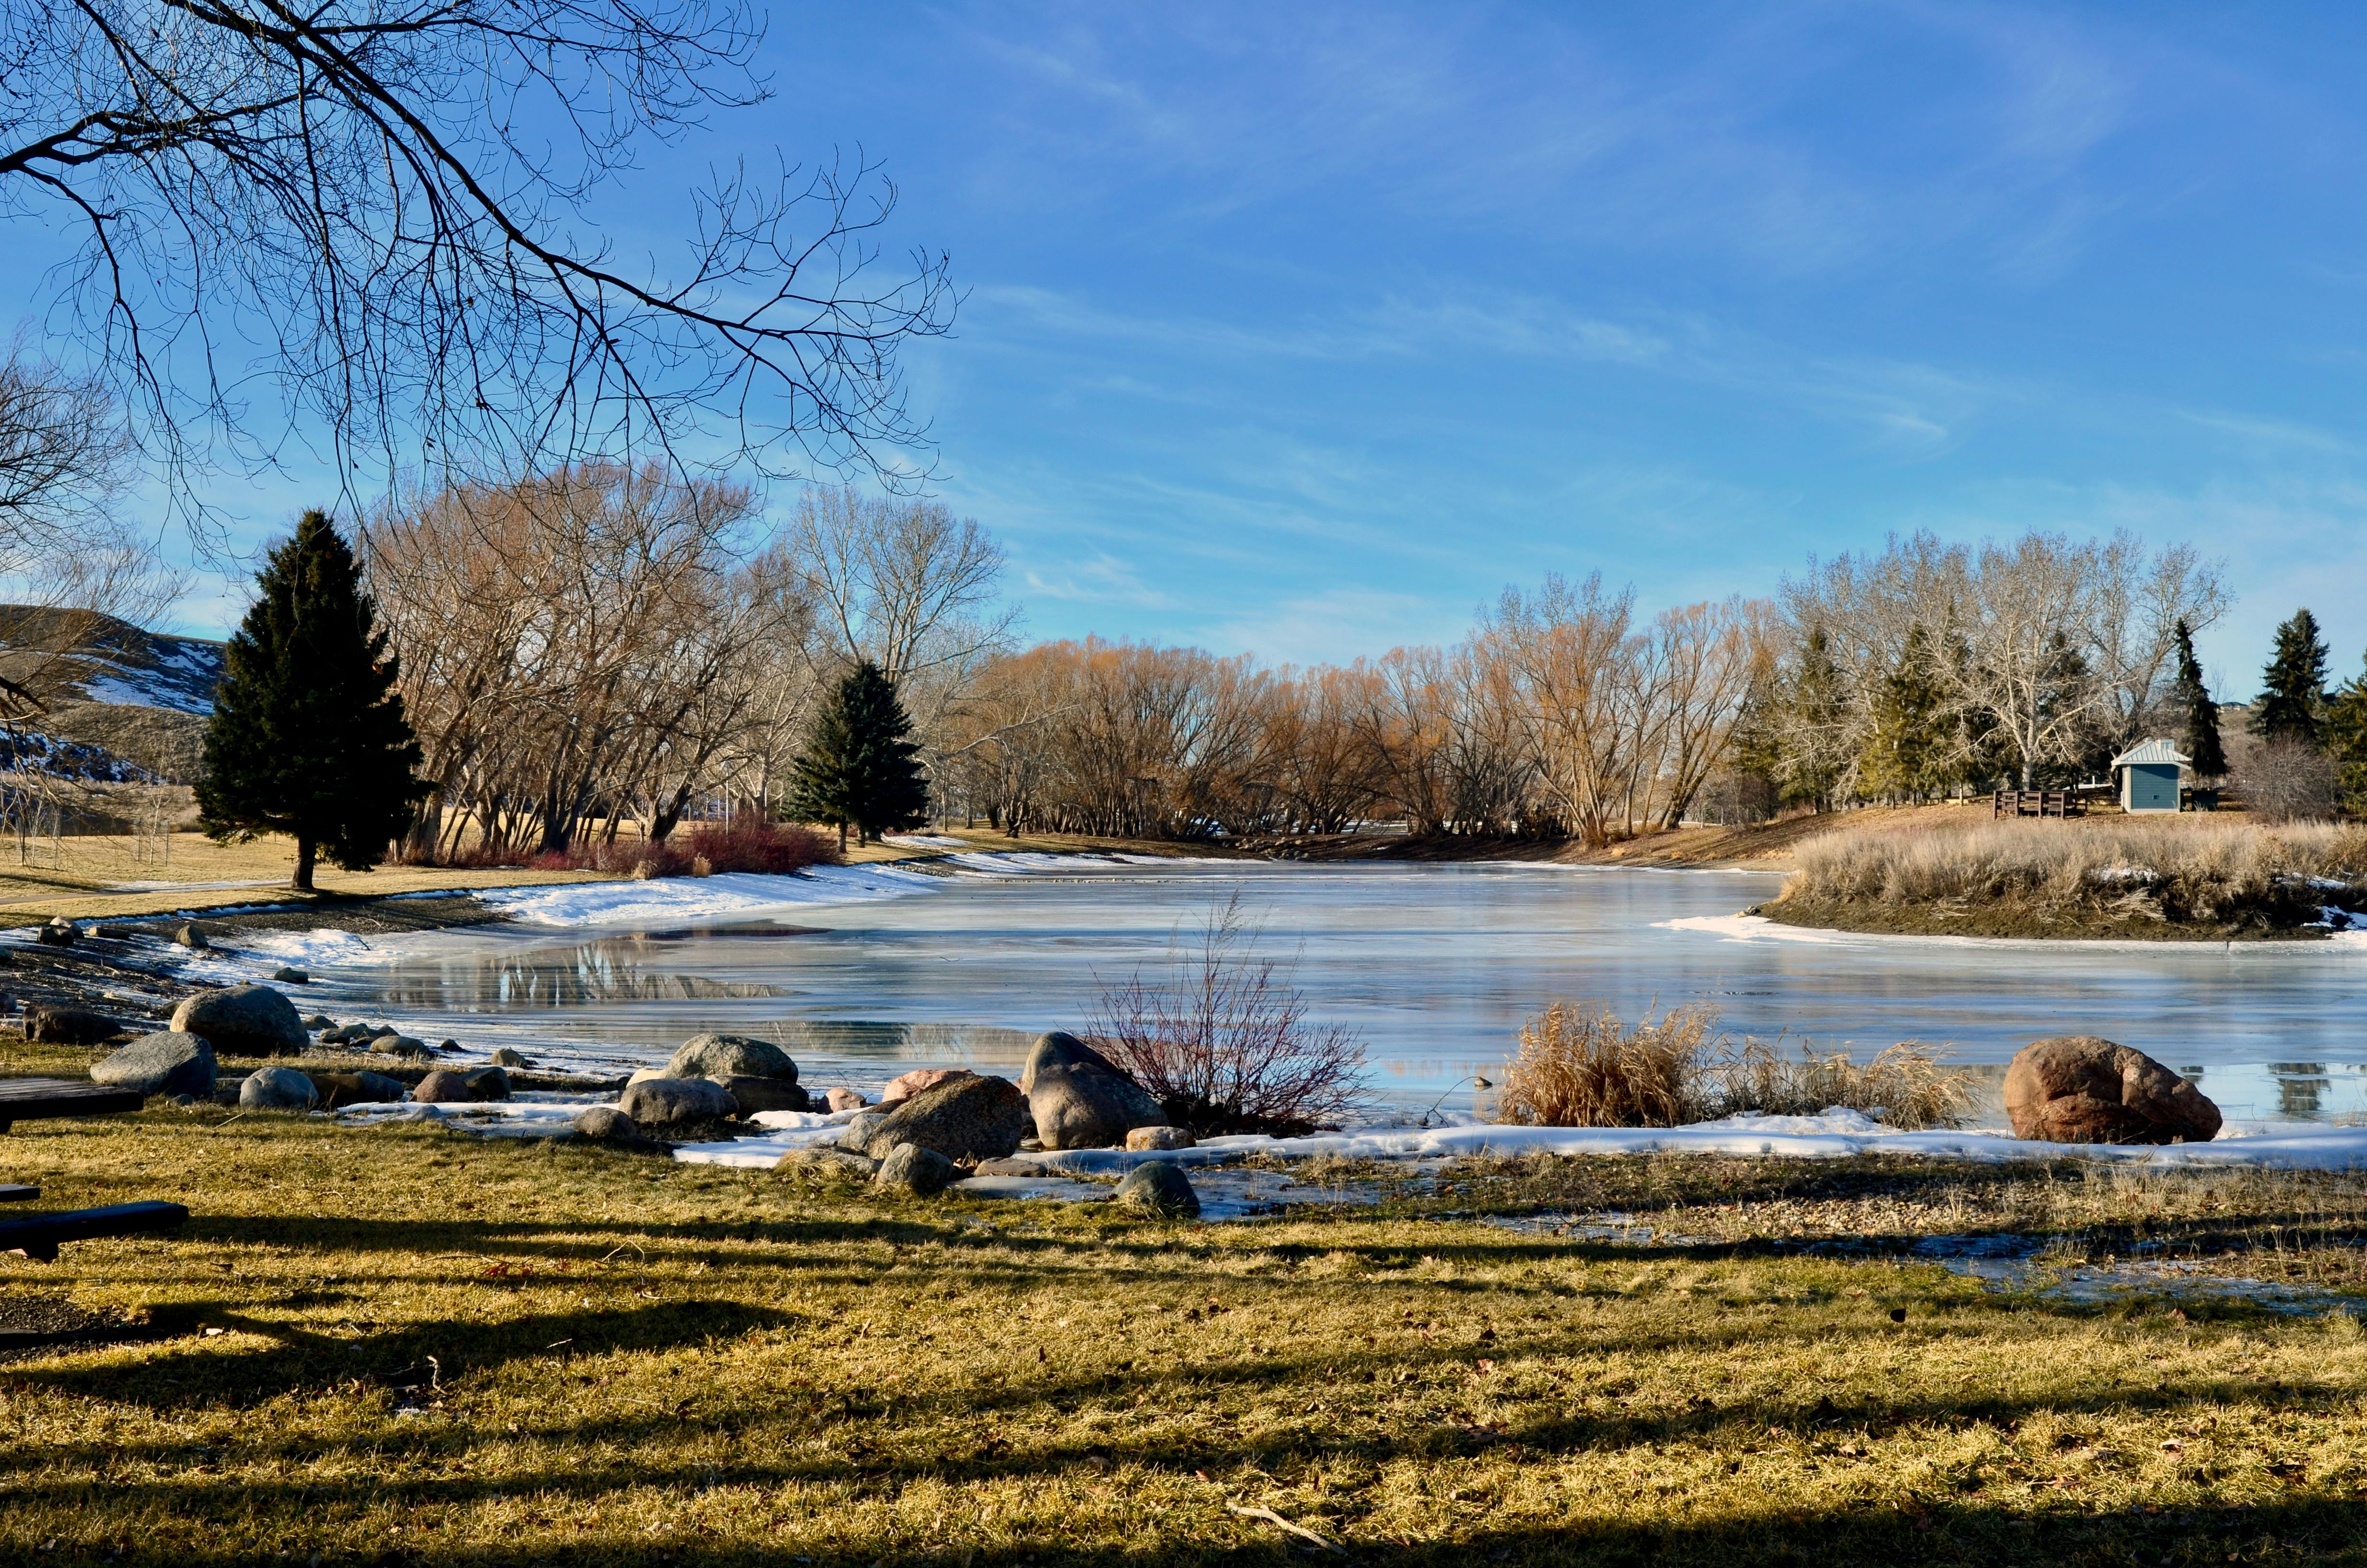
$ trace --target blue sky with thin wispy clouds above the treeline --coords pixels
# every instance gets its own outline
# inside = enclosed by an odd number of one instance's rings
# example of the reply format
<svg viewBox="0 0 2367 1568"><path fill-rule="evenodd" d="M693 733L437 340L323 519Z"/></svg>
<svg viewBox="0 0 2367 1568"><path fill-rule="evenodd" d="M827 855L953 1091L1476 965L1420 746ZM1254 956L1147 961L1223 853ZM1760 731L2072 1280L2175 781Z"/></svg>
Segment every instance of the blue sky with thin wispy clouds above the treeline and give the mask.
<svg viewBox="0 0 2367 1568"><path fill-rule="evenodd" d="M888 166L890 239L968 289L911 360L937 493L1027 635L1347 658L1546 571L1659 606L1889 531L2128 526L2227 557L2244 696L2296 604L2339 673L2367 644L2362 28L774 7L776 99L618 211L772 144Z"/></svg>

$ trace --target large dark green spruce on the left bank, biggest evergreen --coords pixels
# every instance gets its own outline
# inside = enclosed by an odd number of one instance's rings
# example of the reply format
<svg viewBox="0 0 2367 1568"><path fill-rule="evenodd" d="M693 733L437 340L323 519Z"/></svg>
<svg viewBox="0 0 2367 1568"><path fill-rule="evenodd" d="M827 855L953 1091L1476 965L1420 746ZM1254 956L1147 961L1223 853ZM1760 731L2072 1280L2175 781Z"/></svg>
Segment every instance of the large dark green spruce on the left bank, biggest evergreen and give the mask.
<svg viewBox="0 0 2367 1568"><path fill-rule="evenodd" d="M206 725L199 824L218 841L296 838L289 886L327 850L348 872L386 857L426 786L395 658L353 550L320 512L272 547L222 658Z"/></svg>

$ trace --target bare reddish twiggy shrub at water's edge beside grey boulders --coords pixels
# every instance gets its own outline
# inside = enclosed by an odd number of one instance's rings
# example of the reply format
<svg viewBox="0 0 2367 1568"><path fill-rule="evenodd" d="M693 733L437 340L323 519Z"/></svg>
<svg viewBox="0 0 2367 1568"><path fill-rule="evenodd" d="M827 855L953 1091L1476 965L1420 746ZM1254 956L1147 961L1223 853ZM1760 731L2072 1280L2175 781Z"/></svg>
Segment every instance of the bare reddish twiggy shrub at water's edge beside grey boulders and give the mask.
<svg viewBox="0 0 2367 1568"><path fill-rule="evenodd" d="M1307 995L1259 950L1236 893L1195 943L1169 945L1165 978L1105 985L1089 1035L1195 1135L1337 1125L1363 1104L1363 1040L1307 1016Z"/></svg>

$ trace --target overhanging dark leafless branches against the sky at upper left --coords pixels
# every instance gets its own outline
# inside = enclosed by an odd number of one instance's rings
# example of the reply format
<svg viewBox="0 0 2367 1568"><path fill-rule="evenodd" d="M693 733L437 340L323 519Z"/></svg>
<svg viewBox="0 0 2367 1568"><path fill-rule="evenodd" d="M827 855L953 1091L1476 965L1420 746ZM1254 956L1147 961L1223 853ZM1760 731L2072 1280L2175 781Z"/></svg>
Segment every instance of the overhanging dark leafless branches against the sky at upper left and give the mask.
<svg viewBox="0 0 2367 1568"><path fill-rule="evenodd" d="M391 471L722 438L892 476L897 351L952 294L881 272L871 166L722 171L675 258L592 237L637 154L765 99L757 33L734 0L0 0L0 211L80 232L54 306L175 467L317 422Z"/></svg>

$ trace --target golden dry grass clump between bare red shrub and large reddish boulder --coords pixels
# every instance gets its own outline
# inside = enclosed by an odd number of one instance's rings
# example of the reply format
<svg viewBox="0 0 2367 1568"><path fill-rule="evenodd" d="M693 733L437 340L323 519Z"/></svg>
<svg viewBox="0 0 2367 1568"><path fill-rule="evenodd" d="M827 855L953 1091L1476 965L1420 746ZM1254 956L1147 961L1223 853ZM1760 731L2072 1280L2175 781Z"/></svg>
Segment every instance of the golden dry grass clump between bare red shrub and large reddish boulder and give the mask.
<svg viewBox="0 0 2367 1568"><path fill-rule="evenodd" d="M1915 1042L1865 1063L1815 1049L1794 1059L1721 1035L1714 1007L1645 1014L1628 1028L1605 1002L1555 1002L1522 1026L1498 1116L1529 1127L1678 1127L1849 1108L1891 1127L1943 1127L1972 1099L1972 1073Z"/></svg>

